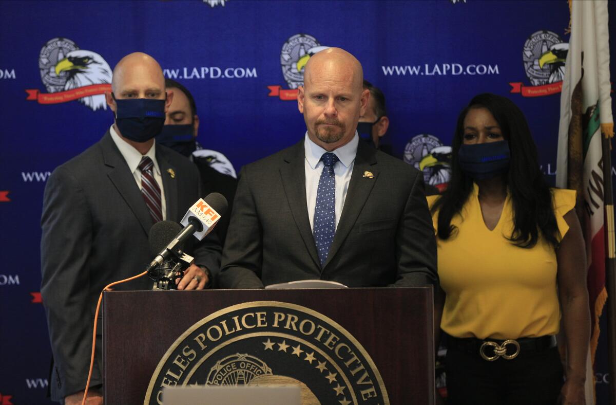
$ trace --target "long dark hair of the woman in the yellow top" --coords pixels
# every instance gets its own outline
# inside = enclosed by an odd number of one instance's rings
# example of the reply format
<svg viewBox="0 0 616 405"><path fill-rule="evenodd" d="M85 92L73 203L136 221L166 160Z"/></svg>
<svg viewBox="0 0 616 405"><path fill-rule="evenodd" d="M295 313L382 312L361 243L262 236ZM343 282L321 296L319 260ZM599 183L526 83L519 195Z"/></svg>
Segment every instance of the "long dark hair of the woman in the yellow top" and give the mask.
<svg viewBox="0 0 616 405"><path fill-rule="evenodd" d="M552 193L539 168L537 147L530 135L529 125L522 111L511 100L490 93L473 97L458 117L452 142L452 179L432 206L432 213L439 210L438 237L448 239L457 232L452 218L460 213L471 194L472 178L464 173L458 163L464 118L471 108L486 108L492 113L511 150L509 170L504 176L514 213L514 228L509 240L518 247L532 248L541 232L543 239L556 248L561 235L554 216Z"/></svg>

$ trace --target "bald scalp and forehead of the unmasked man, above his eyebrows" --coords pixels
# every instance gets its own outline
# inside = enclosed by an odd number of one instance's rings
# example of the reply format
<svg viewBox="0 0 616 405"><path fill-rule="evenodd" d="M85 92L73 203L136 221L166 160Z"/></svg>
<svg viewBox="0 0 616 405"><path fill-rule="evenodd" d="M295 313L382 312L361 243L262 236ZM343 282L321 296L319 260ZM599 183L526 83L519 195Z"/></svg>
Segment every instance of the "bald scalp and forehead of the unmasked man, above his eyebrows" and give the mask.
<svg viewBox="0 0 616 405"><path fill-rule="evenodd" d="M327 76L337 75L350 80L354 91L363 90L363 69L359 60L341 48L328 48L317 52L308 60L304 70L304 88L312 81L327 80Z"/></svg>

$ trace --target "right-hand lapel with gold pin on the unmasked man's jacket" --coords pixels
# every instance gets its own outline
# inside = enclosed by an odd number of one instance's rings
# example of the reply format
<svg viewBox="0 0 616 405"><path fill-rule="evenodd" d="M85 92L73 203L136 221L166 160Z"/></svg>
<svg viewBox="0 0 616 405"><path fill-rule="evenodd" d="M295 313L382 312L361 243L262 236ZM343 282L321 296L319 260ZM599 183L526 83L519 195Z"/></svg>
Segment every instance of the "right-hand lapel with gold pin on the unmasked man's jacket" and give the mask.
<svg viewBox="0 0 616 405"><path fill-rule="evenodd" d="M364 177L366 171L369 171L374 177ZM351 181L349 181L349 190L344 200L344 207L342 208L340 221L338 221L336 235L334 235L334 240L331 242L330 253L327 255L323 269L327 267L327 264L336 255L347 235L351 232L377 178L376 149L360 141L357 145L357 155L355 155Z"/></svg>

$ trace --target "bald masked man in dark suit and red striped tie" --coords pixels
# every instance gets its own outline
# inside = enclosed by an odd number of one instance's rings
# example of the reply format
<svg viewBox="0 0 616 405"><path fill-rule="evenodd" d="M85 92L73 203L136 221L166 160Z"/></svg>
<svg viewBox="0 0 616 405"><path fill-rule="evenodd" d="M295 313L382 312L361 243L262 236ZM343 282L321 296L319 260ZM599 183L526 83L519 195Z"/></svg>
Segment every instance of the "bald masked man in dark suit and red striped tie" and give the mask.
<svg viewBox="0 0 616 405"><path fill-rule="evenodd" d="M49 385L52 399L66 404L81 403L86 387L101 290L144 271L152 260L150 227L162 219L180 221L201 195L195 165L154 142L173 97L156 60L127 55L113 71L111 89L106 97L115 123L99 142L54 170L44 194L41 293L54 355ZM199 266L187 269L178 288L204 288L219 269L219 242L208 236L187 250ZM145 276L114 289L152 284ZM102 403L96 389L103 383L100 335L97 340L88 403Z"/></svg>

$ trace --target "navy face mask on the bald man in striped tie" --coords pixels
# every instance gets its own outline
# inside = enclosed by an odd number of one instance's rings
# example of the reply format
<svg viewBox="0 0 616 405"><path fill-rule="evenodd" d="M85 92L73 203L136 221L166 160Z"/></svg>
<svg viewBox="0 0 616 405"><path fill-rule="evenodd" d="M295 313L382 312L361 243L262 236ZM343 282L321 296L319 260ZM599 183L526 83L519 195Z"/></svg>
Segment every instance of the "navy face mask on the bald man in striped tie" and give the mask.
<svg viewBox="0 0 616 405"><path fill-rule="evenodd" d="M122 99L116 102L116 125L123 137L134 142L149 141L164 125L165 100Z"/></svg>

